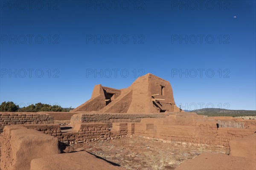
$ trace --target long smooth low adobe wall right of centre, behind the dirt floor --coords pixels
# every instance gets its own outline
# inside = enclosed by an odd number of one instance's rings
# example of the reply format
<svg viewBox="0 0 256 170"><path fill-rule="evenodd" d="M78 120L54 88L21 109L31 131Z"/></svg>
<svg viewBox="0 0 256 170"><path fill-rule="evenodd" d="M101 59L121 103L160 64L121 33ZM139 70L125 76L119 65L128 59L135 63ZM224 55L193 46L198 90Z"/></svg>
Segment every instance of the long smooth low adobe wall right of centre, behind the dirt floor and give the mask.
<svg viewBox="0 0 256 170"><path fill-rule="evenodd" d="M255 121L253 123L250 120L235 118L229 120L243 122L244 128L217 129L218 119L179 113L160 119L142 119L140 123L135 123L134 134L166 142L229 146L231 139L242 138L255 132Z"/></svg>

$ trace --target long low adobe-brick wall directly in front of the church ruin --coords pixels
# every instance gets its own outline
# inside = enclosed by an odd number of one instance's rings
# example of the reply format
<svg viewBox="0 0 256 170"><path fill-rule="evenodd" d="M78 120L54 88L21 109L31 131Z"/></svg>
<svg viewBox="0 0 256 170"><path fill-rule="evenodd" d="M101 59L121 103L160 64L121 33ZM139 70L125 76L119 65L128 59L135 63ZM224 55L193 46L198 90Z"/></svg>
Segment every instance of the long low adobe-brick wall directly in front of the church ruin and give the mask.
<svg viewBox="0 0 256 170"><path fill-rule="evenodd" d="M171 114L171 113L170 113ZM117 113L78 113L71 117L70 125L81 123L107 123L112 127L114 122L140 122L142 118L163 118L168 113L154 114L117 114Z"/></svg>

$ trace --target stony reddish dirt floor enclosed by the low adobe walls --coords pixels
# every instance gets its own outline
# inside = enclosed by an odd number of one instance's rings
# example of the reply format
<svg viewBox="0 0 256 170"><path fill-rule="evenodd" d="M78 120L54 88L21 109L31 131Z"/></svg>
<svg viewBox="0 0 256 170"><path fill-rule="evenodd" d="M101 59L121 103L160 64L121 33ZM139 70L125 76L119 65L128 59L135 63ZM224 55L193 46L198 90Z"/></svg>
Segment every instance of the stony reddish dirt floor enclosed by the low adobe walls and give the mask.
<svg viewBox="0 0 256 170"><path fill-rule="evenodd" d="M126 136L107 142L76 143L62 147L64 153L81 150L129 170L173 170L183 161L193 159L201 153L229 153L227 147L163 143L142 136Z"/></svg>

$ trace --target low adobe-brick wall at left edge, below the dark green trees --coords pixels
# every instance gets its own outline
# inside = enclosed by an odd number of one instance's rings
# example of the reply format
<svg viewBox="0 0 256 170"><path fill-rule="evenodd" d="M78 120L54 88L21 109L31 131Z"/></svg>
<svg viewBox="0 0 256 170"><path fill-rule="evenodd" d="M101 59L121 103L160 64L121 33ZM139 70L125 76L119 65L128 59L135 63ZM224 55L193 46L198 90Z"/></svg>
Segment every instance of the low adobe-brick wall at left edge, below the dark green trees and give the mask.
<svg viewBox="0 0 256 170"><path fill-rule="evenodd" d="M53 117L47 113L0 112L0 133L6 125L51 124Z"/></svg>

